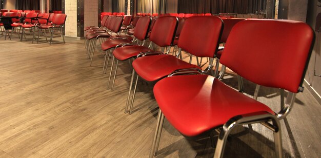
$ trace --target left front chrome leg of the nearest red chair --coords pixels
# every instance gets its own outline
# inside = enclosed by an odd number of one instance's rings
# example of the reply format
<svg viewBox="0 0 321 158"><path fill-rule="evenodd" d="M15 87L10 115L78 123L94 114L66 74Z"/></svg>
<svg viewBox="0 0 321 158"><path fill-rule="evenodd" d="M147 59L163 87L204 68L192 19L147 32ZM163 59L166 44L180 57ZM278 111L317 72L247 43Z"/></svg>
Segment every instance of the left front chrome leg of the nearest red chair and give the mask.
<svg viewBox="0 0 321 158"><path fill-rule="evenodd" d="M163 129L163 123L164 123L164 114L163 114L162 110L159 109L154 140L153 140L152 149L150 151L149 157L153 157L153 156L157 155L160 135L162 134L162 129Z"/></svg>

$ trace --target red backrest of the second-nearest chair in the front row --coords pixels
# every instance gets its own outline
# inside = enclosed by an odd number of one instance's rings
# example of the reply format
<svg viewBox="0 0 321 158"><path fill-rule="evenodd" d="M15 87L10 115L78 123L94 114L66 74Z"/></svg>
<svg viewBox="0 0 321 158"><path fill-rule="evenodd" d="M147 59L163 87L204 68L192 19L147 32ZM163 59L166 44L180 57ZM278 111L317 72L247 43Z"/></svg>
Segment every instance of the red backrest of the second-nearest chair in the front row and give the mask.
<svg viewBox="0 0 321 158"><path fill-rule="evenodd" d="M200 57L214 57L223 31L222 19L216 16L193 16L186 19L177 46Z"/></svg>

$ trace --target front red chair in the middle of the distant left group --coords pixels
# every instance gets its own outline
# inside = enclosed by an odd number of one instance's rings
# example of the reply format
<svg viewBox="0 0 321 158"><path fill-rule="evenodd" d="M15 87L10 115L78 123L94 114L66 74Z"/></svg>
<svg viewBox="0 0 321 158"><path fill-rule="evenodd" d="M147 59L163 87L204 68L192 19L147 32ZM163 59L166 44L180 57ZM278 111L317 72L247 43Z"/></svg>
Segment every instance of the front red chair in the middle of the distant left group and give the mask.
<svg viewBox="0 0 321 158"><path fill-rule="evenodd" d="M32 36L32 43L33 43L33 39L35 38L35 19L37 18L38 16L38 13L35 13L35 12L30 12L26 15L25 17L25 24L23 24L21 26L22 28L22 35L21 35L21 38L20 38L20 41L22 41L23 37L25 36L25 29L28 28L29 30L32 30L33 31L33 36ZM20 31L19 31L20 32ZM26 36L25 36L26 38Z"/></svg>

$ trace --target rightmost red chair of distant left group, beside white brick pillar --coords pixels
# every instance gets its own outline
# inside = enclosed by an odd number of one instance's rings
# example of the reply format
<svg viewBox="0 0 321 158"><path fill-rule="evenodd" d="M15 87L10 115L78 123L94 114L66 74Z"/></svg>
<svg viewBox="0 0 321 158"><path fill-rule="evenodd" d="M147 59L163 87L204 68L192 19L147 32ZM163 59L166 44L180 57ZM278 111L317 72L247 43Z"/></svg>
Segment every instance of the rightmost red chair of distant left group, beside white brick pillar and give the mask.
<svg viewBox="0 0 321 158"><path fill-rule="evenodd" d="M39 29L48 29L50 31L49 45L51 45L52 43L53 31L55 28L58 28L60 30L61 36L63 37L63 41L65 43L65 37L62 28L65 27L66 18L66 14L55 14L52 19L52 25L41 25L38 27Z"/></svg>

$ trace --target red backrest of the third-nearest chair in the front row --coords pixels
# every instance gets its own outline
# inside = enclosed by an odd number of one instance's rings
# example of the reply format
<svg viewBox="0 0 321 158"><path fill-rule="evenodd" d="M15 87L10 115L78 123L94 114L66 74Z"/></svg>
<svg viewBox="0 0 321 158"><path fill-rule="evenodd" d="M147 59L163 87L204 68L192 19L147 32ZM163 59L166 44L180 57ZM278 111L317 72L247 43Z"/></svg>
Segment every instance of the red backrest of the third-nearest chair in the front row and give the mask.
<svg viewBox="0 0 321 158"><path fill-rule="evenodd" d="M158 17L150 34L150 41L160 47L170 46L175 37L177 23L178 19L174 16Z"/></svg>

